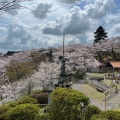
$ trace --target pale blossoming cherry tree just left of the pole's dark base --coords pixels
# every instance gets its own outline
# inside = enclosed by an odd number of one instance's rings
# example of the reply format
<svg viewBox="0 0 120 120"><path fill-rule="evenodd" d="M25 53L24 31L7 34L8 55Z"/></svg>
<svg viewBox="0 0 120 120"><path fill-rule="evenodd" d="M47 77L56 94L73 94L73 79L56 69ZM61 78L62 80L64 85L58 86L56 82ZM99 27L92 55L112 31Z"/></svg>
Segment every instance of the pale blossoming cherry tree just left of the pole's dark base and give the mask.
<svg viewBox="0 0 120 120"><path fill-rule="evenodd" d="M59 78L60 64L56 62L42 62L37 72L32 75L40 85L45 85Z"/></svg>

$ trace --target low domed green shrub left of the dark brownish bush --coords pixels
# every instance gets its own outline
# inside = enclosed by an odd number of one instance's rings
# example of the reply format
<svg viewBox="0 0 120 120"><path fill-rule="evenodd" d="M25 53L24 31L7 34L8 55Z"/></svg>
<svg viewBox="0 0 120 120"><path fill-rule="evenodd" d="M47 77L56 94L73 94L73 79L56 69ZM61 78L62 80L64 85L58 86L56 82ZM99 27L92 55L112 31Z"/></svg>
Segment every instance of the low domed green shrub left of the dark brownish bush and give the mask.
<svg viewBox="0 0 120 120"><path fill-rule="evenodd" d="M23 96L17 100L17 103L18 104L26 104L26 103L37 104L37 100L29 96Z"/></svg>

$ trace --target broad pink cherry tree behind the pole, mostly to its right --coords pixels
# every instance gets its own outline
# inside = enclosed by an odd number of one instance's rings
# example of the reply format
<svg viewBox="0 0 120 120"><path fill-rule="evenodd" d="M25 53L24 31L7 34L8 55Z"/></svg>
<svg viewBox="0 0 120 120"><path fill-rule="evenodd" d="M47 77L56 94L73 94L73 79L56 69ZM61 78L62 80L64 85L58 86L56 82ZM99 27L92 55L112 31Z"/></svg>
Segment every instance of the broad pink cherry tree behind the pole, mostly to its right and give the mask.
<svg viewBox="0 0 120 120"><path fill-rule="evenodd" d="M62 47L53 53L56 61L58 61L58 56L60 55L62 55ZM66 62L66 70L69 69L72 71L73 67L76 67L76 69L83 69L95 66L93 64L95 58L94 54L91 52L90 46L80 44L65 46L65 56L69 58L69 61Z"/></svg>

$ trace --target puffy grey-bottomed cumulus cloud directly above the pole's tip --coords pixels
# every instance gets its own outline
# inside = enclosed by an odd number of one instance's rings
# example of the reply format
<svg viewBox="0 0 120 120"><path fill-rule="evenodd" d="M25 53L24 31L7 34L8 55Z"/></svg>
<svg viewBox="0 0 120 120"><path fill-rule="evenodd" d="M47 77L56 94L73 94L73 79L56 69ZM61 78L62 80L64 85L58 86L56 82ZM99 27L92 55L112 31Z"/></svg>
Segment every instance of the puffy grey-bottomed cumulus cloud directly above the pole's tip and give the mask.
<svg viewBox="0 0 120 120"><path fill-rule="evenodd" d="M56 21L47 23L43 28L44 34L61 35L82 34L90 27L89 19L82 13L79 7L74 7L70 13L62 15Z"/></svg>

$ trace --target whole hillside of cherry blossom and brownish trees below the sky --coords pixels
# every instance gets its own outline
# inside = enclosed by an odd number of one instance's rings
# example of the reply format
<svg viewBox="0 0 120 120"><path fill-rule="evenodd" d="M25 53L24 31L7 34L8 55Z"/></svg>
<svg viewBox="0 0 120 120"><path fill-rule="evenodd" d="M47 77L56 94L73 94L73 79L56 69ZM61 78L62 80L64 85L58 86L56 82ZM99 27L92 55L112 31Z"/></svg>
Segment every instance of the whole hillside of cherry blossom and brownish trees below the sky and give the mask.
<svg viewBox="0 0 120 120"><path fill-rule="evenodd" d="M1 99L14 99L30 94L34 87L43 86L60 77L63 49L36 49L0 57ZM120 60L120 39L105 40L92 46L73 44L65 46L66 74L97 67L99 62ZM97 60L98 61L97 61Z"/></svg>

